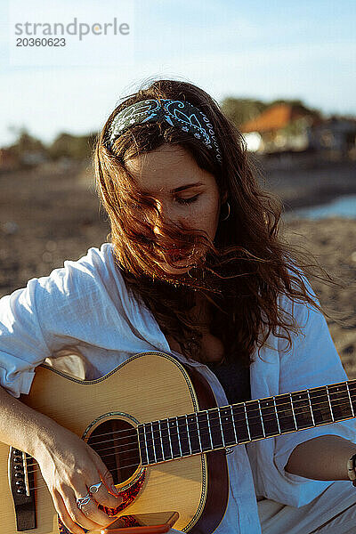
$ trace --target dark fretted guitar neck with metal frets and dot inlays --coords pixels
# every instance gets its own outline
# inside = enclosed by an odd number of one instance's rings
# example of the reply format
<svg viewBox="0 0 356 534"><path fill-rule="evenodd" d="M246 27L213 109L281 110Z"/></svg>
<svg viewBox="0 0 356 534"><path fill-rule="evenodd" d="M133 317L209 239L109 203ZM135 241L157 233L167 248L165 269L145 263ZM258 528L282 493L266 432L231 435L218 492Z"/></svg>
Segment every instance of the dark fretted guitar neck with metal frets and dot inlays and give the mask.
<svg viewBox="0 0 356 534"><path fill-rule="evenodd" d="M351 419L356 380L138 425L142 465Z"/></svg>

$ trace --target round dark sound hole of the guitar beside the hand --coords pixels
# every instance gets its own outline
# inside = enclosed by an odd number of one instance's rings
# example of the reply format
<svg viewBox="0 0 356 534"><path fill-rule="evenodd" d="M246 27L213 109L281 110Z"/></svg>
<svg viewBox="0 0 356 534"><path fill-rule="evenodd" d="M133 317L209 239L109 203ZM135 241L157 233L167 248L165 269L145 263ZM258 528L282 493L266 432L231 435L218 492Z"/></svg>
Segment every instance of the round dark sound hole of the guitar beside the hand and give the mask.
<svg viewBox="0 0 356 534"><path fill-rule="evenodd" d="M141 463L136 429L122 419L96 426L87 442L108 467L115 484L127 481Z"/></svg>

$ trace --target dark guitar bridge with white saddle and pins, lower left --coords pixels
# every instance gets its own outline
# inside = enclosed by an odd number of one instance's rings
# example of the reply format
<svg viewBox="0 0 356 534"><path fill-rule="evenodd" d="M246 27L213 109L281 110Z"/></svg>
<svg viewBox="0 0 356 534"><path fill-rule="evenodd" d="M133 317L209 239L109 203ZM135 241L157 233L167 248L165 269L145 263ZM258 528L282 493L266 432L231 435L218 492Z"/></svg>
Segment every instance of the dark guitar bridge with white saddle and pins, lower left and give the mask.
<svg viewBox="0 0 356 534"><path fill-rule="evenodd" d="M32 457L19 449L10 447L8 473L18 532L36 529L33 466Z"/></svg>

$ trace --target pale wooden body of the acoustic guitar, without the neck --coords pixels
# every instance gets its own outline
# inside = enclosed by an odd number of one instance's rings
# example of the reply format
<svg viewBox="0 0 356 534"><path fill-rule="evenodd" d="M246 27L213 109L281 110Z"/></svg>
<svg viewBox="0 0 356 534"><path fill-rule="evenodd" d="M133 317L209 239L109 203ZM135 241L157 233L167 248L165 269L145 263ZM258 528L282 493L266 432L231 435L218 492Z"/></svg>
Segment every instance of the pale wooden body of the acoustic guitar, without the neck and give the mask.
<svg viewBox="0 0 356 534"><path fill-rule="evenodd" d="M121 448L115 437L134 436L134 429L140 423L214 408L214 394L195 369L183 367L163 352L136 354L108 375L93 381L80 381L53 368L39 366L29 394L23 395L21 401L52 417L91 446L92 442L98 443L93 449L101 455L124 497L119 514L177 511L180 517L174 528L194 534L213 532L222 521L229 494L224 451L142 467L132 437L121 441L125 445ZM99 438L103 434L109 436L106 445ZM9 488L8 457L9 447L0 443L3 534L18 531ZM36 528L21 531L59 534L58 515L36 461L34 469Z"/></svg>

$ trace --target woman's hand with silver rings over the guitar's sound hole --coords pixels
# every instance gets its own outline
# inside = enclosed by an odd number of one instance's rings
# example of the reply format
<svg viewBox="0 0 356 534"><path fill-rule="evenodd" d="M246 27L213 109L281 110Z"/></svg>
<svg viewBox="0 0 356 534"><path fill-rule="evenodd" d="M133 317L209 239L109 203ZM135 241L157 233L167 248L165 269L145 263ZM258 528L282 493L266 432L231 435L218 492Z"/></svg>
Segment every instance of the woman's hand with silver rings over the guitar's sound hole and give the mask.
<svg viewBox="0 0 356 534"><path fill-rule="evenodd" d="M97 504L116 508L122 498L117 496L112 475L101 457L75 433L60 425L45 429L43 436L34 457L61 522L73 534L83 534L80 527L100 530L107 526L113 518L101 511ZM103 482L100 489L80 510L77 499L84 498L88 488L100 481Z"/></svg>

